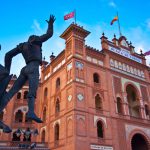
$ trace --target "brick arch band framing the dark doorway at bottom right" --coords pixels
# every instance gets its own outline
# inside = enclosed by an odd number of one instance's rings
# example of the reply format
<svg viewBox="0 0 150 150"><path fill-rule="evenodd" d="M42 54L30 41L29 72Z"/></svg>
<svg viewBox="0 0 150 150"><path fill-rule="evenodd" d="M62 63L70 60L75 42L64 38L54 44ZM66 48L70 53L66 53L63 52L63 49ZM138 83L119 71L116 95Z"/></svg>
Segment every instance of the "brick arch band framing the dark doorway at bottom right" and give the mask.
<svg viewBox="0 0 150 150"><path fill-rule="evenodd" d="M129 135L129 141L128 141L128 149L129 150L132 150L132 138L133 138L133 136L135 135L135 134L140 134L143 138L144 138L144 140L146 141L146 143L147 143L147 145L148 145L148 148L150 149L150 140L149 140L149 137L148 137L148 135L145 133L145 132L143 132L143 131L141 131L141 130L139 130L139 129L135 129L135 130L133 130L131 133L130 133L130 135Z"/></svg>

